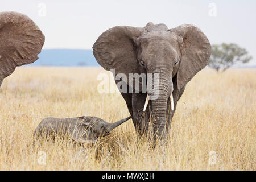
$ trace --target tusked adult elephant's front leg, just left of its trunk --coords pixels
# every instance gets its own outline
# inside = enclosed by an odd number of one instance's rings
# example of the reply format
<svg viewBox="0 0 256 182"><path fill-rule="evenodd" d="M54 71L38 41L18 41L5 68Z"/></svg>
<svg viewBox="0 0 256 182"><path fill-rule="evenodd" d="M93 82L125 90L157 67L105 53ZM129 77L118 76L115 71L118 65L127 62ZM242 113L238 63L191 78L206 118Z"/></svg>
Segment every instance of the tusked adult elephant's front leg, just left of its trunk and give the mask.
<svg viewBox="0 0 256 182"><path fill-rule="evenodd" d="M146 111L143 112L146 97L147 94L142 93L134 93L132 96L133 123L140 137L143 134L146 134L146 132L148 131L148 124L150 122L149 105L147 106Z"/></svg>

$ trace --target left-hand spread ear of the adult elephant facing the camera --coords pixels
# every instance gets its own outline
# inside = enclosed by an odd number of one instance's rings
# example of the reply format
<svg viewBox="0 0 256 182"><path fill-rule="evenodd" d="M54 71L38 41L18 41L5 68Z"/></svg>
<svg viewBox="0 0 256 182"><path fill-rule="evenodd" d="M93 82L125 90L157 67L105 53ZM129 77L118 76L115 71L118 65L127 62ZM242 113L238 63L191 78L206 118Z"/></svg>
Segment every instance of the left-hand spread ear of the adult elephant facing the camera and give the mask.
<svg viewBox="0 0 256 182"><path fill-rule="evenodd" d="M116 26L103 32L93 45L93 54L106 70L115 74L138 73L134 40L143 34L143 28ZM127 82L126 82L127 83Z"/></svg>

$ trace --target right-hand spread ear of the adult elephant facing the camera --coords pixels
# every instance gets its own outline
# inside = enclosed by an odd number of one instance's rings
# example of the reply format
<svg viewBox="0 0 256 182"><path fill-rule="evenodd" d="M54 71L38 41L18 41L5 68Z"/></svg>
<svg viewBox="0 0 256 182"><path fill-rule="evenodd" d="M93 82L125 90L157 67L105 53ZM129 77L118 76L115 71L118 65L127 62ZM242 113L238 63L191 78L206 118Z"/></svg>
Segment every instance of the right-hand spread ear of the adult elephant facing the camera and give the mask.
<svg viewBox="0 0 256 182"><path fill-rule="evenodd" d="M174 32L183 40L181 60L177 71L177 86L181 89L208 64L212 47L204 33L192 24L182 24L169 31Z"/></svg>

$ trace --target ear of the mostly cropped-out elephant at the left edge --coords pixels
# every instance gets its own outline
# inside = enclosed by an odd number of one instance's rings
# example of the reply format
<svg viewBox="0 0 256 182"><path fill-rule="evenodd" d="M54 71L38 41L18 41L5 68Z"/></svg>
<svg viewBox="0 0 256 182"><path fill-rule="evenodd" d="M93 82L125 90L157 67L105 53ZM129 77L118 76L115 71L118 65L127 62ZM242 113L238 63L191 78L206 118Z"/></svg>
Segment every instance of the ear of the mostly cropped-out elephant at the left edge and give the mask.
<svg viewBox="0 0 256 182"><path fill-rule="evenodd" d="M0 83L17 66L36 61L43 44L42 31L28 16L16 12L0 13Z"/></svg>

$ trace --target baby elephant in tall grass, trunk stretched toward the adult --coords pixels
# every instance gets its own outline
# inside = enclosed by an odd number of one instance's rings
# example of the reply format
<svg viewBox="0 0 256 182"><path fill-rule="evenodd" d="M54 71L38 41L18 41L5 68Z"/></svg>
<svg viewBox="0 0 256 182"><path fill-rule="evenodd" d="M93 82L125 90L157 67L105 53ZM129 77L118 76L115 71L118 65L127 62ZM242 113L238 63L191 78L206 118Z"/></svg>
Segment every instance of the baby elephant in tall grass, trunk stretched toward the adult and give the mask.
<svg viewBox="0 0 256 182"><path fill-rule="evenodd" d="M108 123L97 117L77 117L77 118L53 118L48 117L40 122L34 131L34 137L55 137L67 135L76 142L94 143L99 137L110 134L115 127L126 122L131 117L121 119L115 123Z"/></svg>

